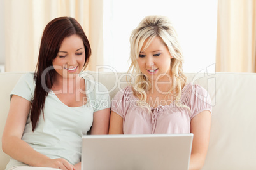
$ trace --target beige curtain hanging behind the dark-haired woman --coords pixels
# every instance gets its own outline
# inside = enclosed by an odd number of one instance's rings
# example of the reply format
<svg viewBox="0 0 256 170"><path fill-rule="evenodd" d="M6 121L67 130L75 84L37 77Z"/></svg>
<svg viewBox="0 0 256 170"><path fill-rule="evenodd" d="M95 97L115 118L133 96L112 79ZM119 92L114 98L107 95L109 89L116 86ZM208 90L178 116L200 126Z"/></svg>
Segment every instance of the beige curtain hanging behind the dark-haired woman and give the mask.
<svg viewBox="0 0 256 170"><path fill-rule="evenodd" d="M6 72L34 71L46 24L59 16L76 18L92 46L94 69L102 58L103 0L5 0ZM100 62L99 62L100 63Z"/></svg>

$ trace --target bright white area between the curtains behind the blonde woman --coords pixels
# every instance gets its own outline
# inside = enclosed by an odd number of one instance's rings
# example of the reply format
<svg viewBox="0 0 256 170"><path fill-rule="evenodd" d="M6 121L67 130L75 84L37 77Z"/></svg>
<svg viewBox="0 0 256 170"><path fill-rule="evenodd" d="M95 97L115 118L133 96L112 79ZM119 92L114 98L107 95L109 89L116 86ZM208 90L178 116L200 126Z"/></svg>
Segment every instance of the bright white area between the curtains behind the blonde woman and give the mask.
<svg viewBox="0 0 256 170"><path fill-rule="evenodd" d="M180 39L183 70L215 72L217 4L217 0L104 1L104 63L127 71L132 30L147 15L165 15L174 23Z"/></svg>

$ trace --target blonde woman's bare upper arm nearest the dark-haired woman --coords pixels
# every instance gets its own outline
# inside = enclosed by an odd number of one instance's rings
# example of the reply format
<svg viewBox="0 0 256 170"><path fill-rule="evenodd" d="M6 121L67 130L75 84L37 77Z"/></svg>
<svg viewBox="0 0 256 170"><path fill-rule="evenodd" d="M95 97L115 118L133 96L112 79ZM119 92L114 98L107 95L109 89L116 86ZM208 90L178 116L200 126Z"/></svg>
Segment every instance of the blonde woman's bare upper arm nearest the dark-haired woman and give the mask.
<svg viewBox="0 0 256 170"><path fill-rule="evenodd" d="M110 130L108 131L108 134L124 134L123 118L113 111L110 115Z"/></svg>

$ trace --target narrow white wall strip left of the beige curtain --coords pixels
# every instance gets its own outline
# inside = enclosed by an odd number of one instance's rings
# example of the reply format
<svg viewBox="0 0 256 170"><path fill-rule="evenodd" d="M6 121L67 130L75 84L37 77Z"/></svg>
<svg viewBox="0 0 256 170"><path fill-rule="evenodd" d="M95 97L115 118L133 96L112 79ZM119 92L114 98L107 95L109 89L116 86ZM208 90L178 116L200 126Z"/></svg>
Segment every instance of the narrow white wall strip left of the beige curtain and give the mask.
<svg viewBox="0 0 256 170"><path fill-rule="evenodd" d="M4 0L0 0L0 65L5 63L4 48Z"/></svg>

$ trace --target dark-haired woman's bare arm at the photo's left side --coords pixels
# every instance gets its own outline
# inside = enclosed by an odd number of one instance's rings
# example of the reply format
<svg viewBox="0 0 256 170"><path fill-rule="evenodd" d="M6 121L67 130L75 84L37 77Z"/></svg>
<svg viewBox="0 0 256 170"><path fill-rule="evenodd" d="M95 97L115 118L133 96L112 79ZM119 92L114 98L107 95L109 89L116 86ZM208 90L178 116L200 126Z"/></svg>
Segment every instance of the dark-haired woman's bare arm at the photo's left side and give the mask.
<svg viewBox="0 0 256 170"><path fill-rule="evenodd" d="M30 101L17 95L12 96L2 138L3 151L10 155L10 157L13 157L13 159L30 166L73 170L73 166L68 161L64 159L50 159L46 155L36 152L29 144L21 139L30 108Z"/></svg>

